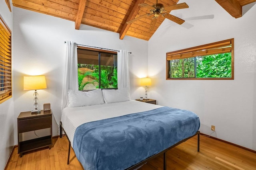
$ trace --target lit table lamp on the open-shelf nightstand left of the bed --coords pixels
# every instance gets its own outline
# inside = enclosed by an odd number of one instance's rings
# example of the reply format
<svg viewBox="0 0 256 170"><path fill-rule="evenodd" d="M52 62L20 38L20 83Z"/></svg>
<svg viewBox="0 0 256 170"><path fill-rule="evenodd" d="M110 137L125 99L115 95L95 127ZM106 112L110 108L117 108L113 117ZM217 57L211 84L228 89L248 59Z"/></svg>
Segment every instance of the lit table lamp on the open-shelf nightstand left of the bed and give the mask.
<svg viewBox="0 0 256 170"><path fill-rule="evenodd" d="M23 90L35 90L34 92L34 110L31 113L38 113L38 92L36 90L45 89L46 80L45 76L24 76L24 86Z"/></svg>

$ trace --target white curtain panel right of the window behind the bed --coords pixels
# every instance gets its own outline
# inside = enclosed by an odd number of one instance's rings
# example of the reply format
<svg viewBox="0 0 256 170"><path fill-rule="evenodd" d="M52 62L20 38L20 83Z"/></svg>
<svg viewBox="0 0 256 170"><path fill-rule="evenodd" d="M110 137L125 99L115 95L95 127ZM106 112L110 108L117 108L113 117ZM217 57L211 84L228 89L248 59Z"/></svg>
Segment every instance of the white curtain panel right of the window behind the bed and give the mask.
<svg viewBox="0 0 256 170"><path fill-rule="evenodd" d="M130 90L129 57L126 50L119 50L117 53L117 86L118 89Z"/></svg>

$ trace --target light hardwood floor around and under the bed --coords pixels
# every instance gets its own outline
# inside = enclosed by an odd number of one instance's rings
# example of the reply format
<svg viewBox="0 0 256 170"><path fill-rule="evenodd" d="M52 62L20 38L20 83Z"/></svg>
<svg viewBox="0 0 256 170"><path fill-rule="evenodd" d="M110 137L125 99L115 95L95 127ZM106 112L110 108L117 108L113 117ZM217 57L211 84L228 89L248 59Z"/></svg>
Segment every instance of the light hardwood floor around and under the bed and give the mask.
<svg viewBox="0 0 256 170"><path fill-rule="evenodd" d="M67 165L68 140L55 138L52 149L28 152L19 157L14 149L7 170L82 170L71 149ZM200 152L197 152L197 136L169 150L167 170L256 170L256 153L215 139L200 136ZM163 156L150 160L139 170L162 170Z"/></svg>

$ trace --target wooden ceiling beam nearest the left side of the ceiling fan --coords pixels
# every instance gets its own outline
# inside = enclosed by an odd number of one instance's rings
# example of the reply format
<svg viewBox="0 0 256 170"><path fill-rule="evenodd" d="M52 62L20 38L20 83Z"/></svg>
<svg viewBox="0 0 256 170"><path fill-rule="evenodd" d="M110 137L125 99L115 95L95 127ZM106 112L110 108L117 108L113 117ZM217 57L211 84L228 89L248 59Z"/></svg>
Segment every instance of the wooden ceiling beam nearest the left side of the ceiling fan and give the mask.
<svg viewBox="0 0 256 170"><path fill-rule="evenodd" d="M137 0L136 3L134 4L130 15L128 16L127 20L124 23L124 26L122 27L122 29L119 33L119 38L120 39L124 39L124 36L126 35L126 32L128 31L128 29L131 25L131 23L127 24L126 22L130 21L130 20L133 20L136 17L136 15L138 14L138 12L140 10L140 7L141 7L141 6L138 6L138 4L142 4L143 2L144 2L144 0Z"/></svg>

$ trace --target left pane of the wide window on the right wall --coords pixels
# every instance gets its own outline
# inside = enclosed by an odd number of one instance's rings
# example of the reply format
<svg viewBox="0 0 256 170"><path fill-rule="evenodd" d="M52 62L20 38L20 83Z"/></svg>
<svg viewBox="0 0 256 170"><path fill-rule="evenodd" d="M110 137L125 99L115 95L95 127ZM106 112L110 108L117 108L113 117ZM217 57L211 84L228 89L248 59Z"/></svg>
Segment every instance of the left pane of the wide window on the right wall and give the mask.
<svg viewBox="0 0 256 170"><path fill-rule="evenodd" d="M170 61L170 78L194 77L194 58Z"/></svg>

